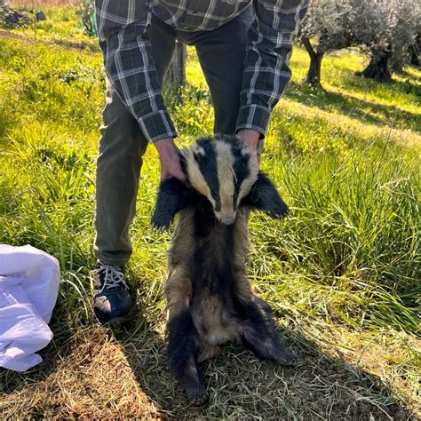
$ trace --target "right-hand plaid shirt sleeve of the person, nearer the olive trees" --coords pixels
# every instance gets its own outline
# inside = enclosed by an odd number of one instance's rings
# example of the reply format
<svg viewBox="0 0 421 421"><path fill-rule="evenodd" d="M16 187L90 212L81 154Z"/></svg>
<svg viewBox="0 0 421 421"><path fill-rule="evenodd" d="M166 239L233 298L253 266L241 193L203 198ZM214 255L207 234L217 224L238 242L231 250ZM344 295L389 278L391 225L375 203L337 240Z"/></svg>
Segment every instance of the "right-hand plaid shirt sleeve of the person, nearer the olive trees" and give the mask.
<svg viewBox="0 0 421 421"><path fill-rule="evenodd" d="M290 81L292 40L308 3L309 0L253 2L256 19L249 32L237 131L254 129L265 136L271 112Z"/></svg>

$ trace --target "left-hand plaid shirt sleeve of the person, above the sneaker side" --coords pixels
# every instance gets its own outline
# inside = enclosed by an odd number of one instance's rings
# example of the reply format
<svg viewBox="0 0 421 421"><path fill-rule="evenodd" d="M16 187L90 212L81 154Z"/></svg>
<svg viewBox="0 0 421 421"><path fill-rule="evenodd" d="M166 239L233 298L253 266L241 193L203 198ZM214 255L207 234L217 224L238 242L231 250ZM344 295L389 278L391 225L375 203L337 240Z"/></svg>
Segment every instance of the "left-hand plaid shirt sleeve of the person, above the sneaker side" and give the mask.
<svg viewBox="0 0 421 421"><path fill-rule="evenodd" d="M151 12L145 0L95 0L99 45L107 77L149 142L177 136L147 36Z"/></svg>

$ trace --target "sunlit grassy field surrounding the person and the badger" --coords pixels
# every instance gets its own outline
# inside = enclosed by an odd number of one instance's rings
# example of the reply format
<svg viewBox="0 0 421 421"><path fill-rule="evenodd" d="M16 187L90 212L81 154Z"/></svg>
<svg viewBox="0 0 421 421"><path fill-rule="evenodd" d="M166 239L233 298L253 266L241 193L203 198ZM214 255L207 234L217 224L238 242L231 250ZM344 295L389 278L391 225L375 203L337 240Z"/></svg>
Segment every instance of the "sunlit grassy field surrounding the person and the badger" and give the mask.
<svg viewBox="0 0 421 421"><path fill-rule="evenodd" d="M0 369L2 418L421 417L421 71L375 83L354 75L367 63L361 52L337 52L324 60L324 90L314 90L302 83L308 58L296 48L262 157L292 212L284 222L252 215L249 273L301 363L285 369L227 346L203 365L211 401L196 409L165 358L171 233L149 226L154 147L131 227L137 316L121 330L93 322L102 59L73 10L44 11L36 28L0 31L0 243L51 253L62 280L44 362L22 374ZM193 50L187 80L178 95L165 88L179 146L213 124Z"/></svg>

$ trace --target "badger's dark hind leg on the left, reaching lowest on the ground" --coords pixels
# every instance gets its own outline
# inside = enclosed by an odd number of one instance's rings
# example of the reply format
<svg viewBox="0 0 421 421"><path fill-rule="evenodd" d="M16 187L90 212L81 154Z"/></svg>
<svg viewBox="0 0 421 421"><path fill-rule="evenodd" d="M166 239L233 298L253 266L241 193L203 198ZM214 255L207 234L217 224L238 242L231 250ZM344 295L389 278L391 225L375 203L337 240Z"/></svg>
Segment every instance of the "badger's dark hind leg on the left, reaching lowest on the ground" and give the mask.
<svg viewBox="0 0 421 421"><path fill-rule="evenodd" d="M191 282L179 274L174 271L165 286L169 305L168 358L175 377L186 390L188 400L195 405L203 405L208 401L208 394L198 367L201 339L189 305Z"/></svg>

